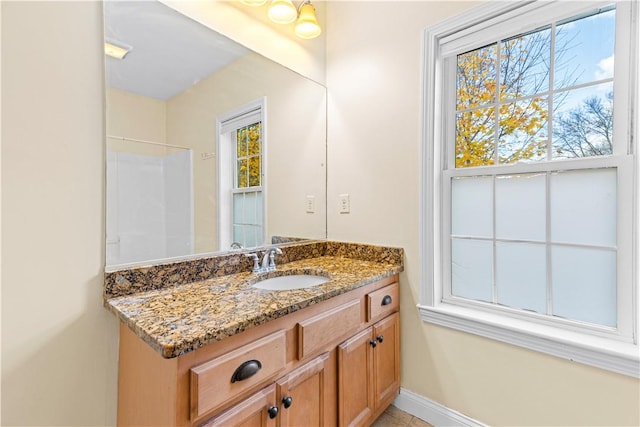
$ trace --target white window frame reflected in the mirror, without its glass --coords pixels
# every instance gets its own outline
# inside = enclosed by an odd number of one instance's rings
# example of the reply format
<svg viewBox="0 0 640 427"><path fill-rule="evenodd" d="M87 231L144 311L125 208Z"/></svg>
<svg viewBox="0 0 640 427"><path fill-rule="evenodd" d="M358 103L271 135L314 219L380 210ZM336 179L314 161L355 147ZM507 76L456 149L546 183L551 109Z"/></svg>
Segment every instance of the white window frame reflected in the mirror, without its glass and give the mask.
<svg viewBox="0 0 640 427"><path fill-rule="evenodd" d="M262 193L262 242L267 236L267 99L266 97L244 104L216 118L216 152L218 153L218 247L230 249L233 243L233 195L242 192ZM231 132L254 123L262 122L262 165L260 187L236 189L236 141ZM250 123L251 122L251 123Z"/></svg>

